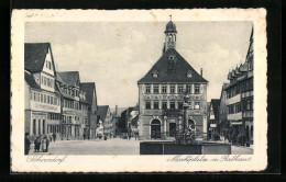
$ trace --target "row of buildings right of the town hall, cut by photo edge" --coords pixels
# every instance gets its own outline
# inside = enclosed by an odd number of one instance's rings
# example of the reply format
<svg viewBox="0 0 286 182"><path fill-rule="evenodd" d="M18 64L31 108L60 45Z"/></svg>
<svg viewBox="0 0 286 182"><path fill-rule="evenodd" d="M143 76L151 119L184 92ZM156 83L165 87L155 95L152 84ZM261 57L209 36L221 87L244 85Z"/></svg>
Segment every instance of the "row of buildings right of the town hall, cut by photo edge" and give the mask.
<svg viewBox="0 0 286 182"><path fill-rule="evenodd" d="M237 144L253 144L253 29L245 61L228 73L220 99L208 109L208 138L219 134Z"/></svg>

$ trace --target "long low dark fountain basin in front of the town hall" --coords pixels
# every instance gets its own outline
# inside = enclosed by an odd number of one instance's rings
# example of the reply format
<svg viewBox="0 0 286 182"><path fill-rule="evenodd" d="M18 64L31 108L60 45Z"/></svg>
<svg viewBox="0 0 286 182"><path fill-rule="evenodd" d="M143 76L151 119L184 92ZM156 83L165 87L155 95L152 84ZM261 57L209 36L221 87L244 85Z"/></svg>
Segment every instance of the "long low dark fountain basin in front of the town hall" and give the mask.
<svg viewBox="0 0 286 182"><path fill-rule="evenodd" d="M178 145L173 141L142 141L140 155L231 155L231 145L200 143Z"/></svg>

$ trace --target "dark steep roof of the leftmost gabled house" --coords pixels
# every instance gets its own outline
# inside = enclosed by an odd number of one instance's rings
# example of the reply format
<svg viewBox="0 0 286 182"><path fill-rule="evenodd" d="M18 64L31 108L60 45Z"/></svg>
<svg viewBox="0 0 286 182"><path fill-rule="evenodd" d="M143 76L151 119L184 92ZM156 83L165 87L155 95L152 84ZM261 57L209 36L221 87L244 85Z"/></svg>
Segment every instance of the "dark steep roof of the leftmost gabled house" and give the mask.
<svg viewBox="0 0 286 182"><path fill-rule="evenodd" d="M25 43L25 69L31 72L42 71L50 46L50 43Z"/></svg>

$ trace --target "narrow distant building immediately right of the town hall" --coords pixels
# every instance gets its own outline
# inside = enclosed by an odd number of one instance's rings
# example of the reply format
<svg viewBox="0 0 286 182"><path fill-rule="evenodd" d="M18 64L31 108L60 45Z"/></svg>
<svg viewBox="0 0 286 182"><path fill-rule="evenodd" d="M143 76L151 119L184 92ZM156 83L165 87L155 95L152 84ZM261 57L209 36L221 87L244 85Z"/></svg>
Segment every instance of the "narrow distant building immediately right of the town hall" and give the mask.
<svg viewBox="0 0 286 182"><path fill-rule="evenodd" d="M219 133L219 99L212 99L209 107L208 138L215 139L215 135Z"/></svg>

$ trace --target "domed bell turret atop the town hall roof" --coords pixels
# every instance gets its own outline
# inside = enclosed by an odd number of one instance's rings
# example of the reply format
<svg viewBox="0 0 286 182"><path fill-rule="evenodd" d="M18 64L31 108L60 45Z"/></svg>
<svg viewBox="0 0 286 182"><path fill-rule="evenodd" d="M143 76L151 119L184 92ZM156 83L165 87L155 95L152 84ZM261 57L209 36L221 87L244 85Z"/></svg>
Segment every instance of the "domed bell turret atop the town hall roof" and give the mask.
<svg viewBox="0 0 286 182"><path fill-rule="evenodd" d="M166 25L165 30L165 43L163 47L163 54L168 48L176 48L176 38L177 38L177 30L175 23L172 22L172 15L169 15L169 22Z"/></svg>

